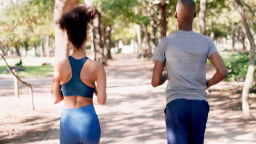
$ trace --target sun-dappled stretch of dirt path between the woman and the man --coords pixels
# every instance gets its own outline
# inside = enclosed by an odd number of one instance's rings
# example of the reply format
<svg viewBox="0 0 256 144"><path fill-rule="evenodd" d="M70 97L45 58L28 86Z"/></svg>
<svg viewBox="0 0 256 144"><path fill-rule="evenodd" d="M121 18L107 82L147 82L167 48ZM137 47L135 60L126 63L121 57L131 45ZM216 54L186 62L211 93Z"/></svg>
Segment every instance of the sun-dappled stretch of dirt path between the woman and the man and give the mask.
<svg viewBox="0 0 256 144"><path fill-rule="evenodd" d="M165 94L150 84L153 63L123 67L110 64L106 67L107 103L95 106L102 129L101 143L166 143ZM101 109L107 110L101 114Z"/></svg>

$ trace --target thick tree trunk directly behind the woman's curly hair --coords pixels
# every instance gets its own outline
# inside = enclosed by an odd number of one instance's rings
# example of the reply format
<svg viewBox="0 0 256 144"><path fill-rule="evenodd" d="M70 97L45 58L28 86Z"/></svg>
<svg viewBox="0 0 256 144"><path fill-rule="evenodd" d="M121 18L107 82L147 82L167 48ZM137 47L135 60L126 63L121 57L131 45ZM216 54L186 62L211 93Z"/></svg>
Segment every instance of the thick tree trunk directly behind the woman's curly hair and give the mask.
<svg viewBox="0 0 256 144"><path fill-rule="evenodd" d="M60 62L69 55L67 32L62 31L59 20L63 14L71 11L79 0L55 0L54 31L55 31L55 59Z"/></svg>

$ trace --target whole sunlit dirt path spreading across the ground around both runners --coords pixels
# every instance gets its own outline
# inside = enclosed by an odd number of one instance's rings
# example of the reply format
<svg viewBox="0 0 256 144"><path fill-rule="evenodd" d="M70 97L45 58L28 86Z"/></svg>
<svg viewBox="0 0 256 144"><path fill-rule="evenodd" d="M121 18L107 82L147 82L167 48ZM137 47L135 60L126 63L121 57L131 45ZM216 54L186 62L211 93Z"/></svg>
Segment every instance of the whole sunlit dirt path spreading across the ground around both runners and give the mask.
<svg viewBox="0 0 256 144"><path fill-rule="evenodd" d="M150 85L153 62L140 61L130 54L115 55L114 58L113 61L109 61L109 65L106 67L107 104L98 105L95 101L95 109L102 129L101 143L167 143L164 116L166 83L158 88L153 88ZM207 77L210 77L214 71L212 71L212 68L208 68L208 70L210 71ZM10 91L9 94L11 94L11 90L7 90L11 89L11 86L4 87L6 87L4 91ZM24 95L24 97L27 97L26 100L19 100L15 104L13 102L15 99L4 94L1 86L0 105L11 103L12 108L8 108L9 105L7 105L1 107L0 110L7 111L9 109L13 111L18 104L19 106L22 104L22 112L18 110L18 113L20 112L19 115L22 115L23 121L24 118L26 121L22 122L21 119L13 123L9 122L10 119L14 119L13 117L18 115L15 112L10 115L8 122L0 120L0 143L39 143L59 122L62 104L54 106L49 103L50 83L46 82L36 87L36 106L38 110L30 113L24 112L25 109L29 108L28 96ZM210 89L208 100L211 111L205 134L206 144L251 144L256 142L255 95L252 95L253 98L250 101L252 103L252 119L243 121L240 118L241 103L237 103L241 94L236 93L236 89L237 83L235 82L222 82ZM25 91L25 89L22 88L22 91ZM24 116L24 113L29 115ZM36 113L38 118L29 119L30 116L36 115ZM15 125L15 131L19 131L19 133L11 131ZM2 136L2 132L5 133L5 131L8 131L9 135ZM10 136L12 132L17 136ZM28 135L30 133L42 134L42 136L35 135L33 136L34 139L26 139L27 133ZM58 137L59 127L56 127L49 139L43 143L59 143ZM13 139L20 140L20 142ZM25 141L21 141L22 139ZM9 142L5 142L8 140Z"/></svg>

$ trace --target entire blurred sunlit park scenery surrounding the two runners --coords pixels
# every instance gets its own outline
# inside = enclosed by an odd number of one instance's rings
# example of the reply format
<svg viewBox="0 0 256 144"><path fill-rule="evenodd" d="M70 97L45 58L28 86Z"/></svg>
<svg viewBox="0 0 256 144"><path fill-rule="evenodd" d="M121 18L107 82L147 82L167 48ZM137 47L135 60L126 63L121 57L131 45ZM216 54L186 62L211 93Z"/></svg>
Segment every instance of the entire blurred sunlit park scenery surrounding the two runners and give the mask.
<svg viewBox="0 0 256 144"><path fill-rule="evenodd" d="M193 31L210 37L229 69L207 92L205 143L256 142L254 0L195 0ZM58 21L76 5L97 11L86 55L105 65L106 105L95 103L101 143L167 143L165 87L150 85L161 38L178 31L172 0L0 0L0 143L59 143L62 103L54 65L72 46ZM215 73L207 62L207 78ZM96 102L96 101L95 101Z"/></svg>

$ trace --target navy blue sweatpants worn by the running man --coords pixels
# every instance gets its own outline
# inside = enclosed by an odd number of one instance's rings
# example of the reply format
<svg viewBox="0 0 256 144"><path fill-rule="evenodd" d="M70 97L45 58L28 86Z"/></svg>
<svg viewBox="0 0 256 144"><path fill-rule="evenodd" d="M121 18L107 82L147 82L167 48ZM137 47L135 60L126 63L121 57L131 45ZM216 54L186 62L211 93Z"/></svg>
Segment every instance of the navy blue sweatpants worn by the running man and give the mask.
<svg viewBox="0 0 256 144"><path fill-rule="evenodd" d="M203 144L209 105L205 100L173 100L166 105L168 144Z"/></svg>

